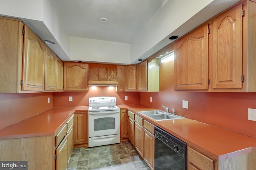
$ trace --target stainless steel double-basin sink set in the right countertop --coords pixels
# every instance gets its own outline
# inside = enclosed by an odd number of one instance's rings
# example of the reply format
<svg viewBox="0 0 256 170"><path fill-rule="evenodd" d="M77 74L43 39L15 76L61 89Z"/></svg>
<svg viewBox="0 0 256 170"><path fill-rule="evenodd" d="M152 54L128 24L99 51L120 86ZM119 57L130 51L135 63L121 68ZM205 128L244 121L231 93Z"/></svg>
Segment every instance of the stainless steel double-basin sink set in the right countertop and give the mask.
<svg viewBox="0 0 256 170"><path fill-rule="evenodd" d="M172 120L172 119L182 119L184 117L178 116L178 115L172 115L172 113L166 114L166 112L162 110L150 110L150 111L138 111L139 113L142 113L143 115L154 119L155 121L162 121L162 120Z"/></svg>

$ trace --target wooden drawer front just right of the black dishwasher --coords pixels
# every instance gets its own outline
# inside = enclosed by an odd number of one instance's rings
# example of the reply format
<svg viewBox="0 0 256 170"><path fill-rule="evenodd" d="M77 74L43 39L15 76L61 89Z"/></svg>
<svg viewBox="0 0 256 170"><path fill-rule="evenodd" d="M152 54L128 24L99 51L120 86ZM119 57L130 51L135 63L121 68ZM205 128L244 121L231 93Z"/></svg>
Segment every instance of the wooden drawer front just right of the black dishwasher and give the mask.
<svg viewBox="0 0 256 170"><path fill-rule="evenodd" d="M188 163L202 170L214 170L214 161L188 147Z"/></svg>

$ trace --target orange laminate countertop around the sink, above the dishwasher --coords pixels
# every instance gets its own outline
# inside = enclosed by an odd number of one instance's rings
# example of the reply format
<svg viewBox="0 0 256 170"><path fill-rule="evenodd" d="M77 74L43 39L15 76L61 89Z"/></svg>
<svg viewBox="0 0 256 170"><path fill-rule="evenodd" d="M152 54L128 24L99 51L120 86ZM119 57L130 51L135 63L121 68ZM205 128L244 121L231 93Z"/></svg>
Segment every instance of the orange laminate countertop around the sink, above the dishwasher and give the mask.
<svg viewBox="0 0 256 170"><path fill-rule="evenodd" d="M226 129L221 129L192 119L154 121L138 111L157 110L143 106L122 106L139 115L144 120L164 129L168 133L188 143L192 148L215 160L256 151L256 139Z"/></svg>

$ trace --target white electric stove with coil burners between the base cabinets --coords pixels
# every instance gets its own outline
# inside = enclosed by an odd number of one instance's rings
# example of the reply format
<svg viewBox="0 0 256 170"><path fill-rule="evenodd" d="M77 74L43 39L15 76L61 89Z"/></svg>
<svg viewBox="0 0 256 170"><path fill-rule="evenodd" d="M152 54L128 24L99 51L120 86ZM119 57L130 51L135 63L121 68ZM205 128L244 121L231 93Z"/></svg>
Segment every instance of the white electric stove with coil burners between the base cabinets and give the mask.
<svg viewBox="0 0 256 170"><path fill-rule="evenodd" d="M89 98L88 147L120 143L120 108L115 97Z"/></svg>

